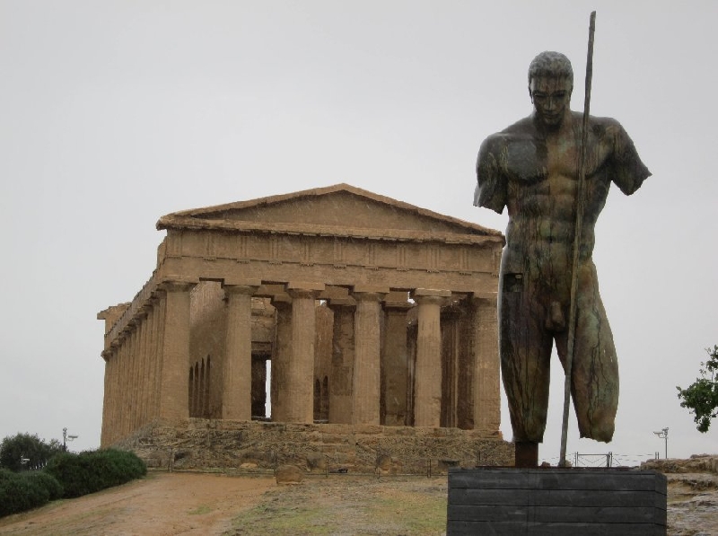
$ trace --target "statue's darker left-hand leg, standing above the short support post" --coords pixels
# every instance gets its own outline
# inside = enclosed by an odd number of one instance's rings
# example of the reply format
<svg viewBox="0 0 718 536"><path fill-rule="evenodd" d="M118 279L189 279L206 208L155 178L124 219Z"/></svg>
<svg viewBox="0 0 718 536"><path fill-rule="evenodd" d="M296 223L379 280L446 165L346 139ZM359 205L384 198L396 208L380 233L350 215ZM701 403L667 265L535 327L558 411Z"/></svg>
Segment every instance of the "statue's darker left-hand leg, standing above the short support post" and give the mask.
<svg viewBox="0 0 718 536"><path fill-rule="evenodd" d="M541 443L546 428L553 339L545 328L546 310L538 303L535 290L523 277L503 276L501 375L517 445Z"/></svg>

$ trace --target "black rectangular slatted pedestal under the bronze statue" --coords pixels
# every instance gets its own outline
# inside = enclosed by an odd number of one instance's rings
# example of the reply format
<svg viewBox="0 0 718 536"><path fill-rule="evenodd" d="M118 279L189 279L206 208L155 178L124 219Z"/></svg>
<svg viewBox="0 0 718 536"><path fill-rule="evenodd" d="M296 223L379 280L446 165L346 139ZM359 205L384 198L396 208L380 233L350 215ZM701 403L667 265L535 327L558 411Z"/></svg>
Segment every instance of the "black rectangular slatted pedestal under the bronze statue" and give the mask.
<svg viewBox="0 0 718 536"><path fill-rule="evenodd" d="M666 477L653 470L449 470L447 536L665 535Z"/></svg>

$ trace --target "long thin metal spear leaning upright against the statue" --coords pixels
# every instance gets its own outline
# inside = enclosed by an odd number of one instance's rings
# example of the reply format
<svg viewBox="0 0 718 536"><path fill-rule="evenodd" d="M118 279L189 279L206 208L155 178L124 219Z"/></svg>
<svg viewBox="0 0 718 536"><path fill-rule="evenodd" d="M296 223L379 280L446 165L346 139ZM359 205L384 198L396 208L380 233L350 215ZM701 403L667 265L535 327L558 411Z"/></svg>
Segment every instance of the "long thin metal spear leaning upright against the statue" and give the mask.
<svg viewBox="0 0 718 536"><path fill-rule="evenodd" d="M581 150L578 161L578 189L576 192L576 226L574 232L574 259L571 268L571 306L568 313L568 351L565 363L564 382L564 421L561 426L561 455L558 465L566 465L566 437L568 435L568 411L571 406L571 376L574 367L574 339L576 331L576 310L578 294L579 250L583 228L583 205L586 191L586 145L589 136L589 111L591 110L591 81L593 79L593 34L596 31L596 12L591 12L589 22L589 48L586 57L586 92L583 101L583 125L581 131Z"/></svg>

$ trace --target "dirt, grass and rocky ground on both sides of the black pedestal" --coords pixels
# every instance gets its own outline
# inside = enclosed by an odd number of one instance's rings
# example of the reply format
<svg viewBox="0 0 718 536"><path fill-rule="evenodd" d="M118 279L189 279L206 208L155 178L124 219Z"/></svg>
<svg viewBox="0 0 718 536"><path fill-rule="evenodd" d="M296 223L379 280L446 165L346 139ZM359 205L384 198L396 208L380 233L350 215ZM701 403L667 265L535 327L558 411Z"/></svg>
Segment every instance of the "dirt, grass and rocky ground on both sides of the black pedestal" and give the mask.
<svg viewBox="0 0 718 536"><path fill-rule="evenodd" d="M711 460L718 463L705 457L652 462L669 479L668 534L718 536L718 474ZM312 476L277 486L270 475L151 473L0 519L0 534L438 536L445 531L446 495L445 476Z"/></svg>

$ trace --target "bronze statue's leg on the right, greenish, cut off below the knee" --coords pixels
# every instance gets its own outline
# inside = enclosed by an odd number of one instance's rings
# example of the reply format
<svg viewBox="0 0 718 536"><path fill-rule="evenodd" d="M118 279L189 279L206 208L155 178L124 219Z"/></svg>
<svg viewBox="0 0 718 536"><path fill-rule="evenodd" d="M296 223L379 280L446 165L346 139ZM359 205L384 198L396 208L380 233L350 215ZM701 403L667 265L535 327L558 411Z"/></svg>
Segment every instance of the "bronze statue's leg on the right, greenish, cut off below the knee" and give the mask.
<svg viewBox="0 0 718 536"><path fill-rule="evenodd" d="M574 409L581 436L608 443L618 407L618 362L592 263L582 267L578 294L571 382Z"/></svg>

